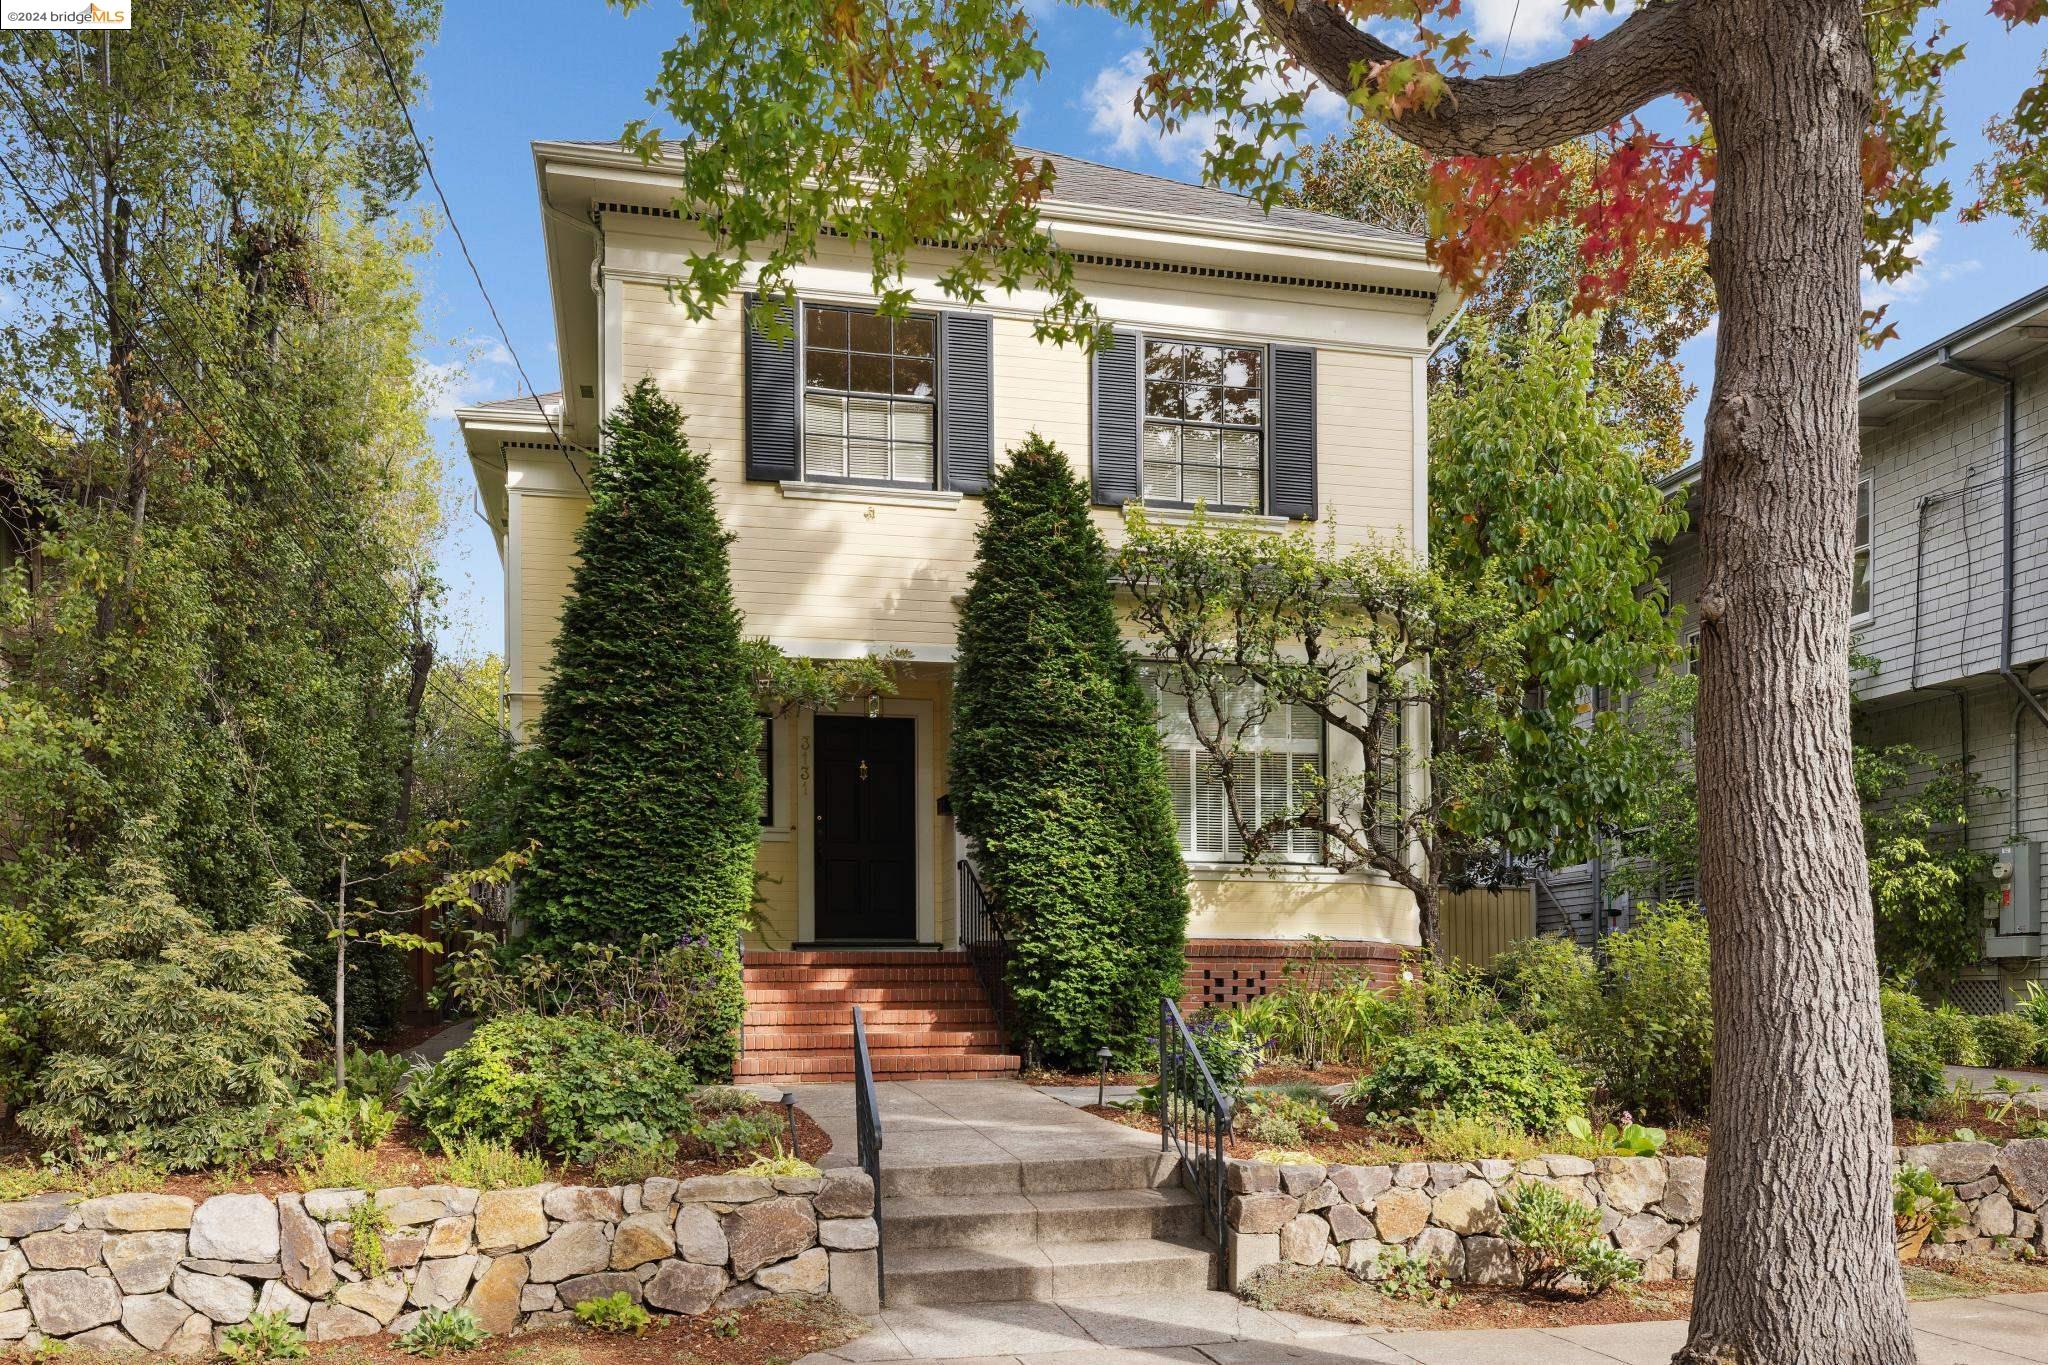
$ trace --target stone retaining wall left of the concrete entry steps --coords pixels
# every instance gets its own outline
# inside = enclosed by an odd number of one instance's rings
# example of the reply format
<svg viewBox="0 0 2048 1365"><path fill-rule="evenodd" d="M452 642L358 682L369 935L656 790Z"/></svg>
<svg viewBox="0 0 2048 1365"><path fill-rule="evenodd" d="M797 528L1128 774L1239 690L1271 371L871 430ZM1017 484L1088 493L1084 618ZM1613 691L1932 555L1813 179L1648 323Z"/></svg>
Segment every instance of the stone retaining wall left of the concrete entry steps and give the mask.
<svg viewBox="0 0 2048 1365"><path fill-rule="evenodd" d="M350 1259L365 1199L389 1224L375 1279ZM852 1169L483 1193L39 1195L0 1203L0 1342L211 1355L252 1312L334 1340L403 1332L457 1304L502 1336L621 1291L670 1314L829 1291L868 1314L877 1240L874 1187Z"/></svg>

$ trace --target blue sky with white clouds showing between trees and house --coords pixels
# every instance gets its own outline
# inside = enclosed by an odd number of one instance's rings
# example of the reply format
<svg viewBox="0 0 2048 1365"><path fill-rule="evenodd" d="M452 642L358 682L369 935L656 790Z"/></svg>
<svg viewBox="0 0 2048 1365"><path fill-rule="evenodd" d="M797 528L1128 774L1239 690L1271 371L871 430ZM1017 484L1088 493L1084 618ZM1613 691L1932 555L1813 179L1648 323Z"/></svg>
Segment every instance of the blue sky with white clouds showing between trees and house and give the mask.
<svg viewBox="0 0 2048 1365"><path fill-rule="evenodd" d="M1597 14L1573 18L1563 0L1466 0L1464 8L1479 41L1495 59L1505 47L1509 65L1556 55L1579 33L1614 23ZM1948 90L1956 137L1950 174L1958 201L1968 201L1968 170L1982 149L1985 119L2011 104L2040 61L2040 37L2007 35L1985 16L1985 0L1942 8L1970 47ZM1196 178L1198 133L1161 139L1130 115L1143 37L1092 8L1040 0L1034 12L1051 65L1022 104L1022 139L1130 170ZM653 0L631 18L602 0L451 0L440 41L426 55L428 92L414 115L512 346L541 389L555 387L557 368L528 143L614 137L629 119L647 117L643 92L682 23L684 10L668 0ZM1341 117L1337 100L1319 96L1311 102L1313 135L1341 129ZM449 491L457 505L442 548L451 587L442 643L449 651L496 651L498 555L471 510L469 467L444 413L516 393L518 375L446 229L436 254L422 262L422 278L434 338L428 360L442 381L434 432L451 456ZM1888 303L1898 323L1898 342L1870 364L1935 340L2044 278L2048 260L2030 252L2009 223L1966 225L1948 215L1921 235L1919 266L1909 278L1886 287L1866 282L1866 301ZM1683 360L1706 389L1712 332Z"/></svg>

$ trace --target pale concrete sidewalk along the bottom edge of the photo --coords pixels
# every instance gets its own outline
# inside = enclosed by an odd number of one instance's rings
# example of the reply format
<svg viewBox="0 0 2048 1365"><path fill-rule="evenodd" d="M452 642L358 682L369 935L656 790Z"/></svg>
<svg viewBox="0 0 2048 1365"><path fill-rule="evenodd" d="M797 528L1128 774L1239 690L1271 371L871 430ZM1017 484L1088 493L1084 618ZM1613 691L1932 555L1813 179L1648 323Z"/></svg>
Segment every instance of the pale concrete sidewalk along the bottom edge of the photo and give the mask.
<svg viewBox="0 0 2048 1365"><path fill-rule="evenodd" d="M1683 1322L1386 1332L1262 1312L1229 1293L895 1308L801 1365L1665 1365ZM2048 1365L2048 1293L1913 1306L1919 1365Z"/></svg>

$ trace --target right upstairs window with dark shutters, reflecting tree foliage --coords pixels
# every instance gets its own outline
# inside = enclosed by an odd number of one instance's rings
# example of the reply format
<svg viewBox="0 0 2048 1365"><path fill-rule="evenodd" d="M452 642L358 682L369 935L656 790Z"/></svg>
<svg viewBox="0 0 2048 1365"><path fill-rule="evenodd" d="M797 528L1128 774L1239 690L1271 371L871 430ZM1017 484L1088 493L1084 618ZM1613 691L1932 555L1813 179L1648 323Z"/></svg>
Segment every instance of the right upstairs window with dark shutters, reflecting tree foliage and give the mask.
<svg viewBox="0 0 2048 1365"><path fill-rule="evenodd" d="M1266 350L1145 340L1145 501L1260 512Z"/></svg>

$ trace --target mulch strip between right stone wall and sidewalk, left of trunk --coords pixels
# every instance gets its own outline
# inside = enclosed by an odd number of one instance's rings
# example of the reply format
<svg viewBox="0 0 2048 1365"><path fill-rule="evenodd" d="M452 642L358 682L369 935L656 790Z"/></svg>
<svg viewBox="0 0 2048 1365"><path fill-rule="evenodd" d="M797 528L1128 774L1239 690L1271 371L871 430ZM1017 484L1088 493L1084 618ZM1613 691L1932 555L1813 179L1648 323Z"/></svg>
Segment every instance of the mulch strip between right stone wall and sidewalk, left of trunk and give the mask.
<svg viewBox="0 0 2048 1365"><path fill-rule="evenodd" d="M1524 1289L1460 1289L1442 1302L1407 1302L1331 1267L1262 1275L1243 1291L1253 1308L1356 1322L1397 1332L1466 1328L1556 1328L1604 1322L1663 1322L1692 1314L1692 1283L1622 1285L1591 1300L1544 1297Z"/></svg>

